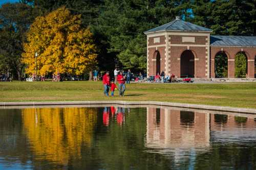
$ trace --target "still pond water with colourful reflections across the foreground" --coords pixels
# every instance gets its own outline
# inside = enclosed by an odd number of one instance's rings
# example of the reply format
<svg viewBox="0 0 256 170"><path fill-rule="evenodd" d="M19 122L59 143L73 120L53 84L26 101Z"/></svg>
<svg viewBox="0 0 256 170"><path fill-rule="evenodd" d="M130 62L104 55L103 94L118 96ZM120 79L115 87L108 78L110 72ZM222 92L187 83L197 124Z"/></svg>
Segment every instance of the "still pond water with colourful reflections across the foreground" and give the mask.
<svg viewBox="0 0 256 170"><path fill-rule="evenodd" d="M0 109L0 169L256 169L256 115Z"/></svg>

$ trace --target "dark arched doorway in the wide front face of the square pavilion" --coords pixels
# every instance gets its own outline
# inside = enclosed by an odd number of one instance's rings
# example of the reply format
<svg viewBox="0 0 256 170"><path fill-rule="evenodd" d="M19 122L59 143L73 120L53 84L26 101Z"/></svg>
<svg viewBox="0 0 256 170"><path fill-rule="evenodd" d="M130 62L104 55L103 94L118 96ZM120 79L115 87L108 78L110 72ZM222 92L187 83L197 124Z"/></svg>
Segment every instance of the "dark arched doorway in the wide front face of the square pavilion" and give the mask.
<svg viewBox="0 0 256 170"><path fill-rule="evenodd" d="M191 50L186 50L181 54L180 77L195 77L195 57Z"/></svg>

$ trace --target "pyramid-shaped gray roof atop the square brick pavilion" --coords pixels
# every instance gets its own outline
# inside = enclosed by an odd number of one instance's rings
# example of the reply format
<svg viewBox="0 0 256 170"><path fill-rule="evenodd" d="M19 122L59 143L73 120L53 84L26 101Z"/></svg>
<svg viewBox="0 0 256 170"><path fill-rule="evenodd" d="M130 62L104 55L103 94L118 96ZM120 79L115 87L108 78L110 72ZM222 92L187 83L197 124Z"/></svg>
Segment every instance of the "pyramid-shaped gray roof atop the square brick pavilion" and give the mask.
<svg viewBox="0 0 256 170"><path fill-rule="evenodd" d="M184 20L176 18L171 22L165 23L165 25L145 31L144 34L161 32L161 31L212 32L211 29L197 26L193 23L186 22Z"/></svg>

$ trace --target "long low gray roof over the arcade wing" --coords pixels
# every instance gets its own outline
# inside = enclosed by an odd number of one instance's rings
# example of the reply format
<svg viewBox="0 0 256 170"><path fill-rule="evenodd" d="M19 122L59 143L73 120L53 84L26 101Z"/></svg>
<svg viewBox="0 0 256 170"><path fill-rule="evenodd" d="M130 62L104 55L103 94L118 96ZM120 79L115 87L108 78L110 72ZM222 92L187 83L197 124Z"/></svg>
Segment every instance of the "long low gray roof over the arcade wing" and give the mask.
<svg viewBox="0 0 256 170"><path fill-rule="evenodd" d="M256 37L211 35L210 46L256 46Z"/></svg>

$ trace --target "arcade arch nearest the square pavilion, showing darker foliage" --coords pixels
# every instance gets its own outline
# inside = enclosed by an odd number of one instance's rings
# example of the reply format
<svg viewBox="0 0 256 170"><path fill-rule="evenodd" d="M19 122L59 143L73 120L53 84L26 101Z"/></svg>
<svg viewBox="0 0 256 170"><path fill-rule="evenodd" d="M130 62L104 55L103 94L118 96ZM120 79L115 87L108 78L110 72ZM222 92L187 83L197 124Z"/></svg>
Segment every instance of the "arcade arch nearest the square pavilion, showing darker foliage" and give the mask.
<svg viewBox="0 0 256 170"><path fill-rule="evenodd" d="M219 52L215 56L215 78L227 78L228 58L225 52Z"/></svg>

